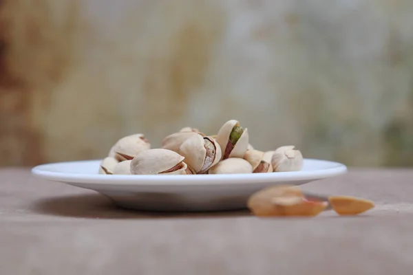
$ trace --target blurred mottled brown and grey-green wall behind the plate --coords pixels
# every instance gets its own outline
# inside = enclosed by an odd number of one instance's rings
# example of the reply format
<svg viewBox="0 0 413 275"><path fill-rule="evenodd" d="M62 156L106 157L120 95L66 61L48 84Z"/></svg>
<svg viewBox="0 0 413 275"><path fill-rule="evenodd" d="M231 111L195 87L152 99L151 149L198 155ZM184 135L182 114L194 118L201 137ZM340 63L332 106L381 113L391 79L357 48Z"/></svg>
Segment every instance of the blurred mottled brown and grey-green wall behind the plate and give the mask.
<svg viewBox="0 0 413 275"><path fill-rule="evenodd" d="M413 166L413 1L2 0L0 166L239 120L261 150Z"/></svg>

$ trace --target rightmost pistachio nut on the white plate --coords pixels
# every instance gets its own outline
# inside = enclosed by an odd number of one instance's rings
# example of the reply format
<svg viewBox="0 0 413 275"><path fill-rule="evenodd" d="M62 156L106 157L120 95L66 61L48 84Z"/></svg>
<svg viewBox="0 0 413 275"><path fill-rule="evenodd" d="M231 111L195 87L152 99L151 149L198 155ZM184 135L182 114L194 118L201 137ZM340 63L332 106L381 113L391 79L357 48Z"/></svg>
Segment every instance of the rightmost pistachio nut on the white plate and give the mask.
<svg viewBox="0 0 413 275"><path fill-rule="evenodd" d="M299 171L303 167L303 155L295 146L282 146L274 151L271 164L274 172Z"/></svg>

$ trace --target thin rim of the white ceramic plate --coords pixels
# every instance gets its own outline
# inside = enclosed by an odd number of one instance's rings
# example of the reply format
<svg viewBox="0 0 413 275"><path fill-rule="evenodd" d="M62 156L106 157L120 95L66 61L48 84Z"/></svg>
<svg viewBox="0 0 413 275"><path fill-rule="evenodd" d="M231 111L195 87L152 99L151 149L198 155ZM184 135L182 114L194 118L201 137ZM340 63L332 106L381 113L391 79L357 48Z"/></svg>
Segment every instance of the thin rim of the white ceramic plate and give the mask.
<svg viewBox="0 0 413 275"><path fill-rule="evenodd" d="M100 162L101 159L89 159L73 162L53 162L34 166L31 170L32 175L50 181L77 184L96 184L96 185L159 185L159 186L194 186L194 185L222 185L222 184L255 184L277 181L300 181L316 180L327 177L342 175L348 171L346 165L339 162L332 162L324 159L304 159L304 162L325 162L330 168L318 170L301 170L294 172L279 173L251 173L251 174L220 174L220 175L100 175L100 174L76 174L62 173L45 170L47 166L74 164L81 162ZM231 181L237 181L233 183ZM118 183L116 183L118 182ZM121 182L121 183L120 183Z"/></svg>

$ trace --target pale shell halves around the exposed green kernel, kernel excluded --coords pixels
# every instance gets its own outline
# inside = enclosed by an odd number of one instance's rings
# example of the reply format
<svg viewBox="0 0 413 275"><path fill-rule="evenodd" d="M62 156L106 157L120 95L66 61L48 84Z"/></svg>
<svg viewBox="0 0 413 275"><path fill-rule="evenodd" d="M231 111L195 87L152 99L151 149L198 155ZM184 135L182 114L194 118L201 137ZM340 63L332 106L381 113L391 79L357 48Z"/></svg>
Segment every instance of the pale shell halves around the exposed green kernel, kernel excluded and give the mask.
<svg viewBox="0 0 413 275"><path fill-rule="evenodd" d="M229 142L229 137L231 135L231 132L233 131L234 126L240 126L240 123L237 122L237 120L229 120L222 125L220 131L218 131L217 134L217 142L220 144L221 151L222 151L222 159L226 159L226 146L228 145ZM237 143L235 143L235 146L231 150L231 153L229 153L228 157L244 157L245 152L248 148L248 130L244 128L244 131L240 138L237 140Z"/></svg>

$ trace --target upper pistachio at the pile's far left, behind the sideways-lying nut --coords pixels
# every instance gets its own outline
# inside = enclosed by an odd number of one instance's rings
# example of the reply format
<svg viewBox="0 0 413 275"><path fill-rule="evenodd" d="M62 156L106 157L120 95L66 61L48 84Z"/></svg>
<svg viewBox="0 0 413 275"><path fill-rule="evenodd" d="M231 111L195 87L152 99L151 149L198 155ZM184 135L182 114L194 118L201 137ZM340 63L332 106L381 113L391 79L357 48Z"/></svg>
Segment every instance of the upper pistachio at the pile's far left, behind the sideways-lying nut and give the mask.
<svg viewBox="0 0 413 275"><path fill-rule="evenodd" d="M122 137L110 149L109 157L114 157L120 162L127 159L133 159L140 151L148 150L151 144L145 139L145 135L137 133L135 135L127 135Z"/></svg>

